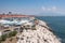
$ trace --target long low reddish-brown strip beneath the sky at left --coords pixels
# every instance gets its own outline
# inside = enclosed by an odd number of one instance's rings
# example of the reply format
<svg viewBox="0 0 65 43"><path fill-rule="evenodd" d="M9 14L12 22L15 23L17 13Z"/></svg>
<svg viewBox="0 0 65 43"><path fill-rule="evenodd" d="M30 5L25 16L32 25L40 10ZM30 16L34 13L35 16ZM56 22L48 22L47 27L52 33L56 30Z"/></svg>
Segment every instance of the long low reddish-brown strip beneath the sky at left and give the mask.
<svg viewBox="0 0 65 43"><path fill-rule="evenodd" d="M0 14L0 18L5 18L5 17L34 17L34 15Z"/></svg>

